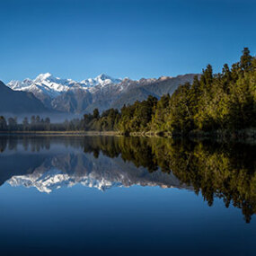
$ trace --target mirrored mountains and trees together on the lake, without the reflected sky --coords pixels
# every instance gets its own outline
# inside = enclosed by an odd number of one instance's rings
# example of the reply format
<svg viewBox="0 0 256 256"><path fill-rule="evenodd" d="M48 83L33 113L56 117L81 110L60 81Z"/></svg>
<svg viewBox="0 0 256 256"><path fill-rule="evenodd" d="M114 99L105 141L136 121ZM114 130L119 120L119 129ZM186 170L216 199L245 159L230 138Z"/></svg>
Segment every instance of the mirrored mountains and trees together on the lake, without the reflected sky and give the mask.
<svg viewBox="0 0 256 256"><path fill-rule="evenodd" d="M51 192L80 183L106 190L132 185L201 193L212 206L256 212L255 146L143 137L1 137L0 184Z"/></svg>

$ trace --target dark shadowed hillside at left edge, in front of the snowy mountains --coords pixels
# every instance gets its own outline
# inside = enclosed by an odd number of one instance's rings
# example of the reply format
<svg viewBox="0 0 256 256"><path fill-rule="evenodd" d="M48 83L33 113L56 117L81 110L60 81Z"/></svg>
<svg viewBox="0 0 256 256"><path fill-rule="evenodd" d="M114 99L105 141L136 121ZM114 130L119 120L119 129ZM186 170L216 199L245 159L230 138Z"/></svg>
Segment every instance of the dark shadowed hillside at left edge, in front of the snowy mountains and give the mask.
<svg viewBox="0 0 256 256"><path fill-rule="evenodd" d="M49 111L32 93L15 92L0 81L0 113Z"/></svg>

